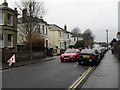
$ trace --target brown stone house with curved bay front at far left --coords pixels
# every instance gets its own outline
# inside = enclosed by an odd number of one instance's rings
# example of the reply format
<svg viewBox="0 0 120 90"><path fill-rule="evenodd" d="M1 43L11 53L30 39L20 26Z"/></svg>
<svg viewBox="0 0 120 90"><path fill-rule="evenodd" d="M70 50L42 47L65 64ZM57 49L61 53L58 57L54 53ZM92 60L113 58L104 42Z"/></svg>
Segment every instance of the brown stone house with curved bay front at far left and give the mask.
<svg viewBox="0 0 120 90"><path fill-rule="evenodd" d="M0 5L0 48L17 51L17 8L8 7L4 1Z"/></svg>

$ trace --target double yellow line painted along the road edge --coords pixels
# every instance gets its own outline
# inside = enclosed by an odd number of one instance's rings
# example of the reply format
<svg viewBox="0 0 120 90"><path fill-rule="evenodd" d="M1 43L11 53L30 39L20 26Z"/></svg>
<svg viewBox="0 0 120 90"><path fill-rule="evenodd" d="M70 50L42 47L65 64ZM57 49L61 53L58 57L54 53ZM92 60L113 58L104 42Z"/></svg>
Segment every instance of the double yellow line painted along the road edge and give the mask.
<svg viewBox="0 0 120 90"><path fill-rule="evenodd" d="M93 67L89 67L83 74L80 76L77 81L75 81L69 88L68 90L74 90L75 88L78 87L78 85L81 84L81 82L87 77L87 75L90 73L90 71L93 69Z"/></svg>

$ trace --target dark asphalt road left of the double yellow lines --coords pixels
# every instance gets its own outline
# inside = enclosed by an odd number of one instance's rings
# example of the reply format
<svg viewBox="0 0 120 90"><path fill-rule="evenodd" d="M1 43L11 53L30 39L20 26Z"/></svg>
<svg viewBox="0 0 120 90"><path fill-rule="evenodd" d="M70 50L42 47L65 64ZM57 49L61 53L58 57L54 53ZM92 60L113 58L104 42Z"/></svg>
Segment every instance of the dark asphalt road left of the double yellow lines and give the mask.
<svg viewBox="0 0 120 90"><path fill-rule="evenodd" d="M3 88L69 88L89 66L57 59L12 68L2 73Z"/></svg>

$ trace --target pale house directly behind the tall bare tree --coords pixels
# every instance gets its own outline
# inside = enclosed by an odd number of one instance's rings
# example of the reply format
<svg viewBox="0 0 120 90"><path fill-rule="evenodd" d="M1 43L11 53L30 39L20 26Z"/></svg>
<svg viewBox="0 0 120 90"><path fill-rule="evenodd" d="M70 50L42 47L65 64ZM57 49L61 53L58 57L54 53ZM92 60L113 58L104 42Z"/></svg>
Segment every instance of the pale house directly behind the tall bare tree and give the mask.
<svg viewBox="0 0 120 90"><path fill-rule="evenodd" d="M23 21L23 19L25 18L25 14L26 14L26 10L23 9L22 11L22 17L20 17L18 19L18 28L17 28L17 31L18 31L18 38L17 38L17 43L18 44L21 44L21 43L24 43L26 42L26 39L27 39L27 35L25 32L25 30L27 30L26 28L24 29L23 27L25 27L25 22ZM27 16L29 17L29 16ZM38 18L38 17L33 17L33 20L35 21L35 26L34 26L34 29L32 30L32 35L33 34L36 34L37 36L40 36L44 39L44 47L49 47L49 40L48 40L48 34L49 34L49 24L44 21L42 18ZM33 22L34 23L34 22ZM21 27L23 29L23 31L21 30Z"/></svg>

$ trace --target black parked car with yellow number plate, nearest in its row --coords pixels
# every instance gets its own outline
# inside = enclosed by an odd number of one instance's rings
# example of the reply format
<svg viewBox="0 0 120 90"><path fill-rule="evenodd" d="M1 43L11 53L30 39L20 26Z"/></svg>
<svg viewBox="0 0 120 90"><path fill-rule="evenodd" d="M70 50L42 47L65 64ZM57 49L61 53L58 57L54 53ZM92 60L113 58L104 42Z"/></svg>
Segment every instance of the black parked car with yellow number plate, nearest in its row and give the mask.
<svg viewBox="0 0 120 90"><path fill-rule="evenodd" d="M93 63L98 65L100 63L100 54L96 49L84 49L78 55L78 64Z"/></svg>

